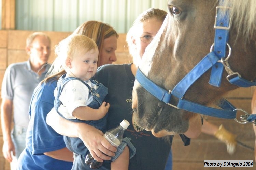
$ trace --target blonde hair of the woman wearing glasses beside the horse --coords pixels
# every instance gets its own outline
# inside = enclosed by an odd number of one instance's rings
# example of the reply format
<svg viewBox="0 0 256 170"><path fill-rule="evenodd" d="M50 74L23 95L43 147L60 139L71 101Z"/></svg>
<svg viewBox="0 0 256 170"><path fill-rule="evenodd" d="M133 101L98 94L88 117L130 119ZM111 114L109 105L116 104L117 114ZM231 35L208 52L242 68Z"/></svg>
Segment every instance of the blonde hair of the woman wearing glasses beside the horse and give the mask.
<svg viewBox="0 0 256 170"><path fill-rule="evenodd" d="M133 22L131 28L126 34L126 42L129 48L129 53L133 57L133 63L138 64L140 58L137 57L138 54L136 52L136 47L133 46L133 37L136 36L138 27L140 26L141 23L145 22L148 19L151 18L156 18L157 20L163 22L165 20L165 17L167 15L166 11L160 10L160 9L155 9L155 8L150 8L144 12L142 12L137 19Z"/></svg>

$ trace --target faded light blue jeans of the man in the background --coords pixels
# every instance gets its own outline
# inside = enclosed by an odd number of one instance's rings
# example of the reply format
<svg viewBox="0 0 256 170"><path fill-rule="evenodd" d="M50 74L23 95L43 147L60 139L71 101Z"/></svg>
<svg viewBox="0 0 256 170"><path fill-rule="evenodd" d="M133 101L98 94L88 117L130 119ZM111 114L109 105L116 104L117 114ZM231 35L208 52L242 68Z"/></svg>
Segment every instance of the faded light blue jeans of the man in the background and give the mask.
<svg viewBox="0 0 256 170"><path fill-rule="evenodd" d="M10 163L11 170L16 170L17 168L17 160L19 158L19 155L22 153L22 151L26 147L26 133L27 128L24 128L22 126L14 125L13 131L12 131L12 141L14 143L15 147L15 156L12 155L12 162Z"/></svg>

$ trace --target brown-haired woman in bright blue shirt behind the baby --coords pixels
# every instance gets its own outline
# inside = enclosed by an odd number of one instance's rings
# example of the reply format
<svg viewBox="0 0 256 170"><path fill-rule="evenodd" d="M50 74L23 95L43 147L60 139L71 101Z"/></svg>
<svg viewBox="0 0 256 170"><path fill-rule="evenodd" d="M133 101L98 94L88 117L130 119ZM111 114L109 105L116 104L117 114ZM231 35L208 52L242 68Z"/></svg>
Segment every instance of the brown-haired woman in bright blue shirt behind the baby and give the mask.
<svg viewBox="0 0 256 170"><path fill-rule="evenodd" d="M118 34L113 27L98 21L88 21L79 26L73 34L85 35L96 42L100 51L99 65L116 61ZM48 72L48 77L34 90L29 107L30 122L26 148L18 159L19 170L70 170L72 167L73 153L66 148L63 136L46 124L46 115L54 107L54 89L57 80L64 73L65 70L56 58Z"/></svg>

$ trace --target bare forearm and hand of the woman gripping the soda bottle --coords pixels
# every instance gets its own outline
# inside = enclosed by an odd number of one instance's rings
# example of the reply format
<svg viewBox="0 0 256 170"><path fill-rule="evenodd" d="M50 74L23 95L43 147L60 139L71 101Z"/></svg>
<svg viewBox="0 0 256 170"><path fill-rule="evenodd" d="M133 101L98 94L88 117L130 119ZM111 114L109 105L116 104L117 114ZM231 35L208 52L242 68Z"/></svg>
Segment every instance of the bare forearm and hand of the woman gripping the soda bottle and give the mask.
<svg viewBox="0 0 256 170"><path fill-rule="evenodd" d="M115 155L116 148L103 137L100 130L91 125L64 119L58 115L54 108L48 113L46 122L61 135L80 138L93 158L99 162L110 160Z"/></svg>

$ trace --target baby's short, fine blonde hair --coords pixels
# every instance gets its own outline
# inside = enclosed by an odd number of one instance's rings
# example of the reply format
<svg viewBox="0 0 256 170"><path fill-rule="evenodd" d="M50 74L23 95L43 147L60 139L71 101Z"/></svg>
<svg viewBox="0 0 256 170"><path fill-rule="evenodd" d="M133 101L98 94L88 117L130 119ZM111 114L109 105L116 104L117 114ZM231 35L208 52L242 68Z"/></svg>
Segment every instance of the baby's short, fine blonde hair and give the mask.
<svg viewBox="0 0 256 170"><path fill-rule="evenodd" d="M56 59L65 70L67 69L65 64L66 59L73 59L75 55L79 55L82 52L87 53L91 50L94 50L94 52L98 51L98 46L92 39L85 35L71 34L55 46Z"/></svg>

